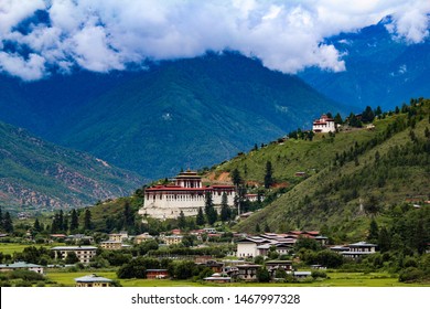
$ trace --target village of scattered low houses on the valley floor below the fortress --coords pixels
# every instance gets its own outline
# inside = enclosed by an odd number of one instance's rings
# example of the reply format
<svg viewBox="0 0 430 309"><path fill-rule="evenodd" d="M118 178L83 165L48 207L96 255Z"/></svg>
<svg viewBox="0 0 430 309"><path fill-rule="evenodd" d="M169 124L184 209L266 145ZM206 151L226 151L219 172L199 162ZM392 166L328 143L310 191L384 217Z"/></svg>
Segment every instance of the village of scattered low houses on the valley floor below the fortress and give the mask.
<svg viewBox="0 0 430 309"><path fill-rule="evenodd" d="M190 231L183 234L180 230L173 230L170 235L153 236L148 233L141 235L128 235L127 232L109 234L109 239L95 244L92 236L82 234L76 235L51 235L55 242L75 243L76 245L53 246L50 252L53 255L53 265L36 265L24 262L14 262L11 264L0 264L0 271L11 271L25 269L36 274L49 276L50 268L67 268L74 267L74 264L65 264L66 262L76 260L82 267L90 268L92 264L100 252L117 252L127 254L133 246L142 245L147 242L159 243L163 247L180 247L182 242L192 235L200 244L196 248L207 247L204 243L211 243L212 239L224 237L224 233L217 232L216 228L203 228ZM226 258L216 258L214 255L179 255L169 254L158 256L158 259L187 260L196 266L202 266L206 269L207 277L202 280L215 284L238 283L256 283L256 281L303 281L313 280L314 277L325 277L322 271L327 269L326 265L313 264L305 266L310 270L301 270L295 264L300 264L298 255L293 254L294 245L302 242L319 245L338 255L338 258L347 258L351 260L359 259L365 255L376 253L376 245L366 242L358 242L348 245L327 245L327 237L320 235L318 231L290 231L286 234L262 233L259 235L246 235L235 233L232 235L234 244L233 252ZM206 241L204 242L203 238ZM78 245L80 243L89 245ZM219 243L218 243L219 244ZM149 254L151 256L151 254ZM228 258L227 258L228 257ZM292 259L290 259L292 258ZM259 264L255 263L258 262ZM262 264L265 266L262 266ZM267 278L261 278L259 269L267 271ZM97 269L93 269L97 270ZM171 279L172 274L169 269L144 269L144 278L147 279ZM88 274L83 277L74 278L76 287L109 287L112 279L97 276L96 273Z"/></svg>

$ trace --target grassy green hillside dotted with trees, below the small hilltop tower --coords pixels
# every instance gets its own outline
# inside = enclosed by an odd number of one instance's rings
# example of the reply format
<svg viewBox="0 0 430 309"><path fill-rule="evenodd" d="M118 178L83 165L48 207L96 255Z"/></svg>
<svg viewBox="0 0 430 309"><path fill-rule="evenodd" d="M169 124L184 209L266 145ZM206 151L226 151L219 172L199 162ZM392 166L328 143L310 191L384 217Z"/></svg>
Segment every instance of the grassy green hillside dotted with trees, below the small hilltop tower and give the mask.
<svg viewBox="0 0 430 309"><path fill-rule="evenodd" d="M270 161L276 184L287 187L281 189L284 194L235 228L255 232L257 223L273 232L323 228L358 239L372 215L384 221L385 211L397 205L428 201L430 100L418 105L375 120L374 130L344 127L334 137L280 140L214 168L215 178L238 169L249 188L261 190Z"/></svg>

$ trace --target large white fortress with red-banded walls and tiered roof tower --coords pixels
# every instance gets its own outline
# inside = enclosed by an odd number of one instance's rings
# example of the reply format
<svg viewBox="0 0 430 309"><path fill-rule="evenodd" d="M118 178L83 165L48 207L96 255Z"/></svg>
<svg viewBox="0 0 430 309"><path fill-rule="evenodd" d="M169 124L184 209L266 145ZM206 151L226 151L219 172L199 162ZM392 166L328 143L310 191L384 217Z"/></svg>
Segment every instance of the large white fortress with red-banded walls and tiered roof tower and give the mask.
<svg viewBox="0 0 430 309"><path fill-rule="evenodd" d="M143 207L139 210L139 214L160 220L179 217L181 211L185 216L197 215L198 209L204 210L206 193L212 193L215 209L218 211L224 193L227 195L227 204L234 205L234 185L203 187L202 177L189 170L181 172L173 184L146 189Z"/></svg>

